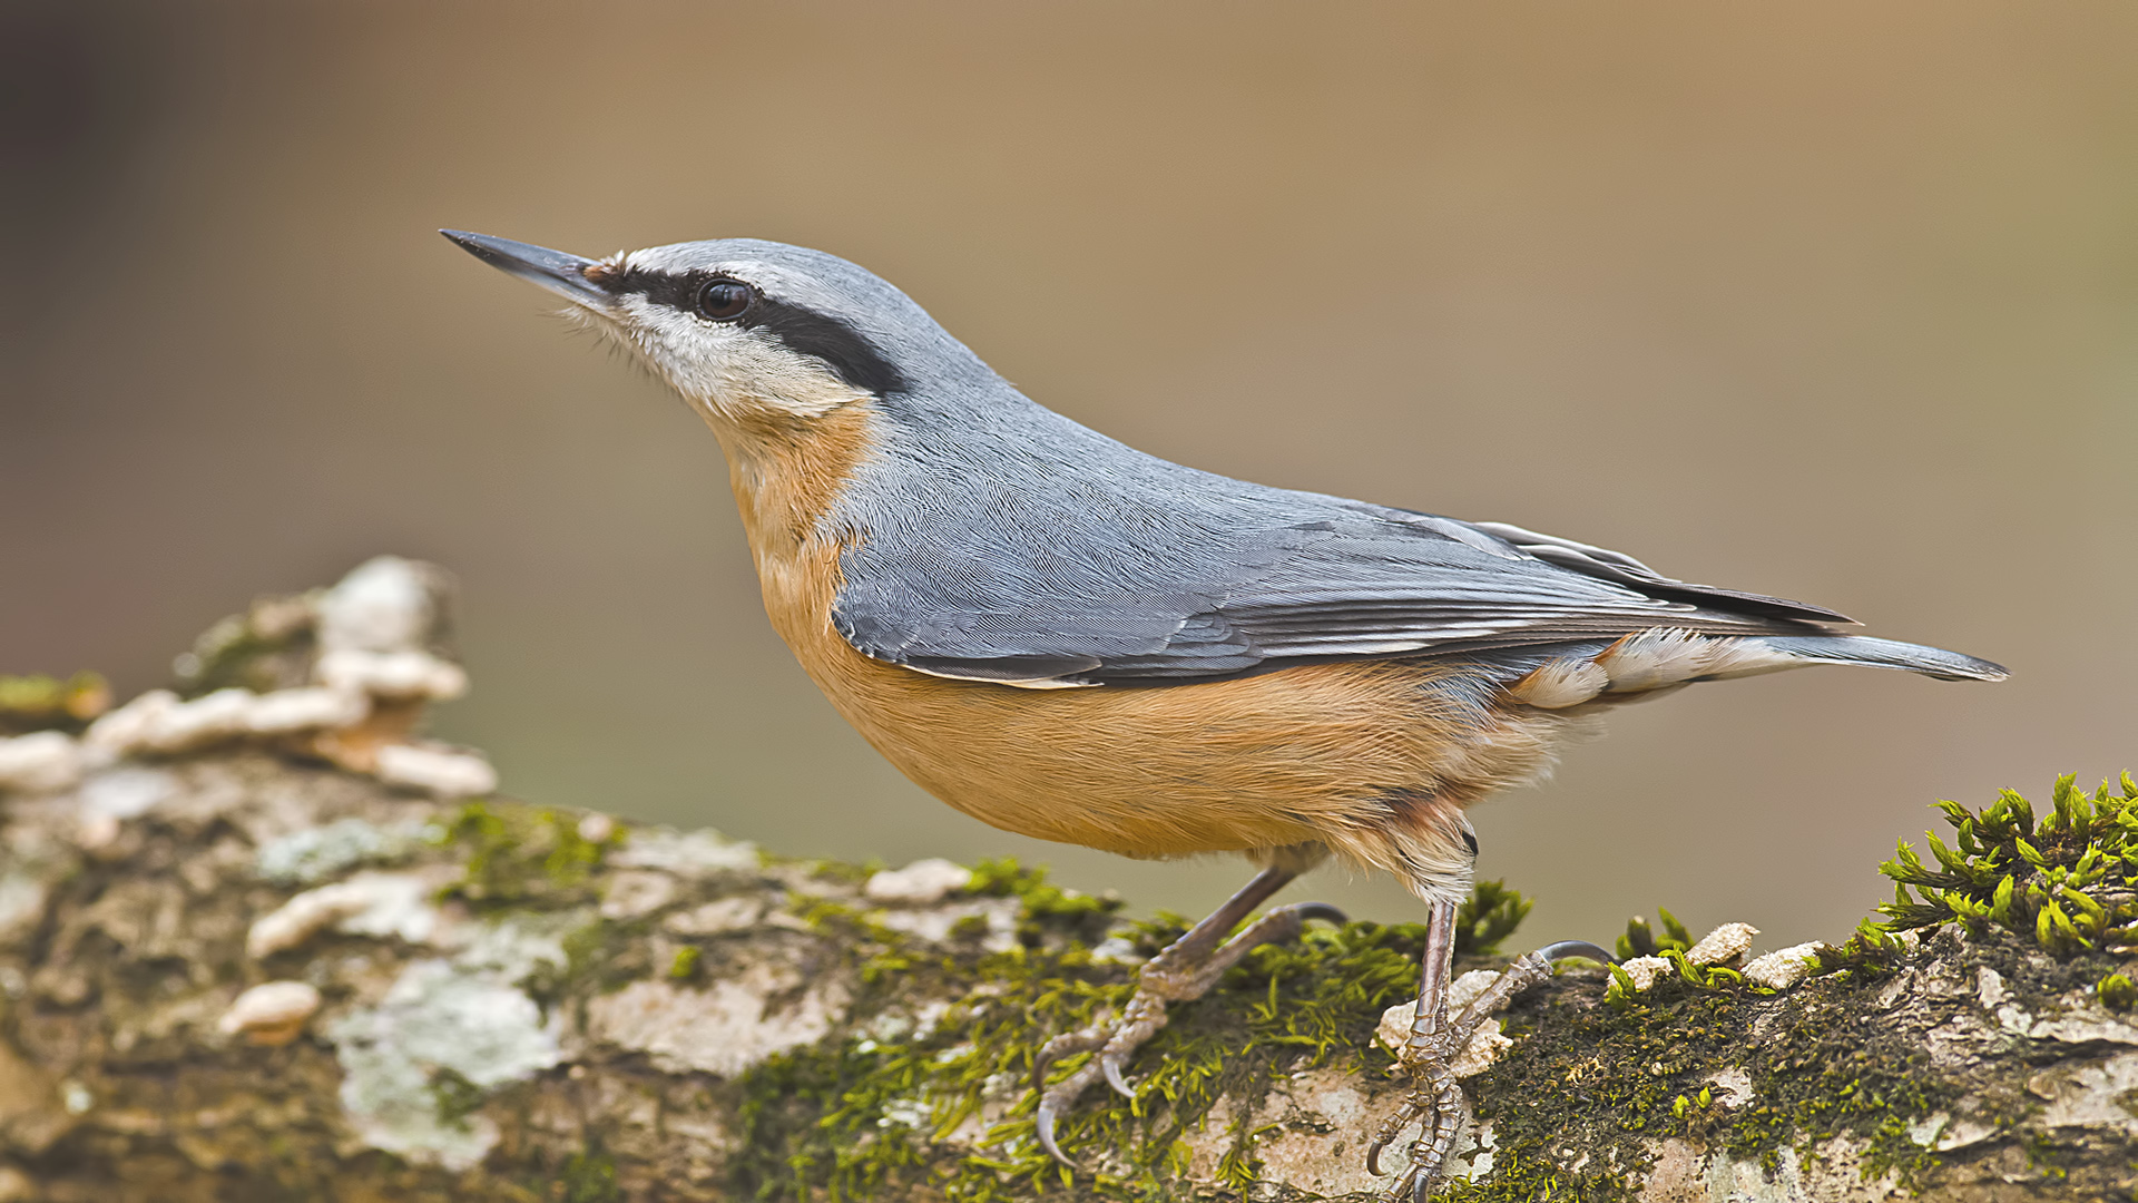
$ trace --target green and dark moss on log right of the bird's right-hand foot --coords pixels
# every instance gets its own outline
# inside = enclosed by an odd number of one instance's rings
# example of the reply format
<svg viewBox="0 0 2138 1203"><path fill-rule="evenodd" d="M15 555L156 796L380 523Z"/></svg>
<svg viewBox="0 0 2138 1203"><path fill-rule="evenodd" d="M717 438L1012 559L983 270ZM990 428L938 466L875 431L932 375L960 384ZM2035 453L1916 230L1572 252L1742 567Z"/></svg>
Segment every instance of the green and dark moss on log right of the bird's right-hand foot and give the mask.
<svg viewBox="0 0 2138 1203"><path fill-rule="evenodd" d="M1527 1038L1477 1090L1499 1139L1494 1171L1486 1182L1458 1184L1452 1197L1629 1197L1627 1175L1644 1169L1646 1141L1666 1137L1768 1169L1792 1149L1809 1158L1824 1141L1849 1137L1866 1177L1892 1173L1911 1190L1935 1184L1943 1162L1909 1137L1911 1126L1963 1100L1978 1115L2014 1120L2033 1105L2003 1098L2012 1092L1965 1070L1935 1068L1914 1034L1862 1023L1866 993L1881 989L1907 955L1894 929L1967 927L1973 942L1946 953L1956 972L1995 968L2023 1000L2097 985L2106 1006L2138 1002L2121 965L2093 953L2097 944L2123 944L2138 927L2138 908L2127 901L2129 886L2138 886L2134 794L2127 777L2121 796L2108 786L2087 796L2065 777L2052 813L2040 822L2010 790L1982 813L1941 803L1958 848L1933 837L1939 867L1931 869L1903 846L1884 867L1901 884L1896 901L1881 908L1890 923L1858 925L1841 948L1819 957L1822 976L1783 1000L1768 1002L1772 991L1730 970L1689 965L1691 933L1670 912L1661 912L1661 931L1631 920L1618 950L1663 957L1676 974L1640 993L1614 970L1608 1008L1569 1004L1563 983L1522 1000L1516 1027ZM1753 1006L1766 1015L1757 1038L1747 1021ZM1937 998L1918 1006L1943 1019L1967 1002ZM1749 1075L1751 1102L1734 1111L1715 1105L1706 1081L1723 1068ZM1601 1147L1567 1147L1569 1132L1612 1137ZM1567 1164L1586 1169L1561 1169Z"/></svg>

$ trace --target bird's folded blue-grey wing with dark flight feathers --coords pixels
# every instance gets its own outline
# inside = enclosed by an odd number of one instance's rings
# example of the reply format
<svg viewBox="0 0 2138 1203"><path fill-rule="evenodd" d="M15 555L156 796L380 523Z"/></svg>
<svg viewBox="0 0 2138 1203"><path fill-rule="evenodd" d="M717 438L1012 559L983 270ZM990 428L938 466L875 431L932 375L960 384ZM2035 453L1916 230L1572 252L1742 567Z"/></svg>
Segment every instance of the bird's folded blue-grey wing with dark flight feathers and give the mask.
<svg viewBox="0 0 2138 1203"><path fill-rule="evenodd" d="M1518 527L1364 503L1107 518L864 542L842 559L834 623L862 653L941 676L1159 685L1648 627L1822 634L1847 621Z"/></svg>

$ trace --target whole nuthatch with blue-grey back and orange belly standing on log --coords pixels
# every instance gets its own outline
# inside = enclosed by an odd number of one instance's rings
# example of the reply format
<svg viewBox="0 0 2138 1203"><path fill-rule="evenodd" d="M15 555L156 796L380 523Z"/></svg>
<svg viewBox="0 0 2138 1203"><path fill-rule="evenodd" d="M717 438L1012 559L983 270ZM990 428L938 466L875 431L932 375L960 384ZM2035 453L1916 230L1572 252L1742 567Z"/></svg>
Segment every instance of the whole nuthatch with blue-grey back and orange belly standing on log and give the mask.
<svg viewBox="0 0 2138 1203"><path fill-rule="evenodd" d="M1462 1122L1452 1060L1469 1034L1554 961L1610 961L1550 944L1450 1015L1471 805L1535 781L1614 704L1693 683L1813 664L2005 676L1599 546L1137 452L821 250L721 238L586 259L440 233L562 295L703 417L772 627L907 777L1020 835L1257 867L1142 965L1118 1015L1035 1053L1037 1139L1063 1164L1060 1115L1099 1079L1133 1098L1125 1070L1169 1004L1257 944L1345 920L1291 903L1242 927L1336 858L1392 873L1426 910L1398 1053L1411 1085L1366 1158L1381 1173L1420 1124L1388 1199L1426 1199ZM1071 1053L1095 1055L1048 1081Z"/></svg>

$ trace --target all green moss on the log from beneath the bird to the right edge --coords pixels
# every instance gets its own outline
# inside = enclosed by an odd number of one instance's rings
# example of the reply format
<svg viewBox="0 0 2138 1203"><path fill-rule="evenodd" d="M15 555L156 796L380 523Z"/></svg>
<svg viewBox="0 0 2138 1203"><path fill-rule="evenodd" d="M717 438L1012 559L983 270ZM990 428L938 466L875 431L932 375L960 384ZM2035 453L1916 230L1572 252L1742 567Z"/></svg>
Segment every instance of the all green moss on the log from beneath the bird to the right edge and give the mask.
<svg viewBox="0 0 2138 1203"><path fill-rule="evenodd" d="M2138 831L2138 816L2125 818L2129 794L2125 783L2121 798L2108 790L2082 796L2063 781L2050 820L2033 822L2016 794L1958 820L1973 822L1956 854L1967 873L1941 858L1937 873L1954 880L1926 888L1928 897L1954 890L1967 901L1916 925L1961 923L1978 933L1941 953L1950 972L1995 968L2029 1006L2080 987L2097 987L2112 1006L2138 1002L2121 965L2089 948L2119 940L2119 923L2089 927L2091 912L2061 895L2076 890L2108 918L2132 920L2117 910L2127 895L2110 895L2138 884L2129 869L2138 846L2127 856L2121 843L2123 831ZM1905 858L1901 871L1916 873ZM1368 1075L1390 1066L1370 1032L1385 1006L1415 989L1424 942L1415 925L1355 923L1257 948L1208 998L1176 1006L1169 1025L1137 1051L1133 1102L1095 1087L1063 1120L1060 1143L1086 1167L1069 1173L1033 1135L1033 1055L1050 1036L1088 1025L1131 995L1133 974L1097 961L1097 940L1110 931L1155 953L1184 920L1122 923L1112 918L1112 899L1058 890L1043 871L1009 861L977 867L969 893L1020 899L1026 940L1011 953L983 955L969 944L945 957L902 944L851 908L815 903L806 912L812 925L864 938L859 955L872 968L864 993L874 993L857 1000L857 1012L887 1000L954 1002L936 1027L909 1038L845 1038L757 1066L742 1081L740 1197L1174 1199L1187 1139L1212 1122L1219 1098L1253 1102L1274 1079L1308 1066ZM1973 914L1969 903L2005 910ZM2050 918L2044 938L2048 903L2065 914L2070 933ZM1527 910L1501 882L1482 884L1462 912L1465 957L1505 942ZM1909 1135L1924 1117L1963 1100L1990 1122L2016 1122L2035 1107L2010 1083L1967 1077L1988 1070L1928 1064L1920 1032L1862 1021L1873 991L1886 989L1907 957L1888 925L1866 920L1822 957L1819 976L1783 995L1730 968L1693 965L1685 957L1691 944L1691 929L1659 910L1657 923L1636 918L1621 940L1621 953L1670 961L1672 972L1648 991L1621 976L1608 991L1612 1006L1597 1006L1597 978L1565 974L1516 1002L1505 1015L1516 1045L1469 1083L1479 1115L1494 1126L1492 1171L1450 1184L1447 1199L1631 1199L1666 1139L1772 1171L1847 1137L1869 1177L1894 1175L1920 1190L1943 1173L1941 1158ZM2042 957L2044 948L2063 959ZM1941 1023L1973 1004L1969 995L1926 995L1911 1006ZM1063 1060L1048 1077L1060 1081L1082 1064L1082 1055ZM1725 1105L1713 1085L1719 1070L1747 1075L1751 1096ZM1223 1132L1199 1143L1217 1145L1221 1190L1244 1192L1259 1173L1255 1147L1266 1130L1253 1128L1251 1107L1229 1115ZM979 1117L988 1124L975 1139ZM941 1139L951 1130L962 1130L960 1147L979 1152L949 1154ZM2052 1164L2063 1154L2044 1147L2035 1156Z"/></svg>

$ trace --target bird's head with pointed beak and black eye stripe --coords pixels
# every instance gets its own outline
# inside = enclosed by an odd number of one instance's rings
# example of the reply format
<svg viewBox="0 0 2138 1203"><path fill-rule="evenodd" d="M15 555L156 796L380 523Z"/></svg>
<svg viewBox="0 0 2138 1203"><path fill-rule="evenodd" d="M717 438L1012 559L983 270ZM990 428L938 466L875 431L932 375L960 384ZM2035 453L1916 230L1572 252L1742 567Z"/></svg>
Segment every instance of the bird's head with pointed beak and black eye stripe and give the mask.
<svg viewBox="0 0 2138 1203"><path fill-rule="evenodd" d="M911 298L821 250L721 238L582 259L440 233L569 300L716 426L806 422L921 381L930 392L1009 392Z"/></svg>

